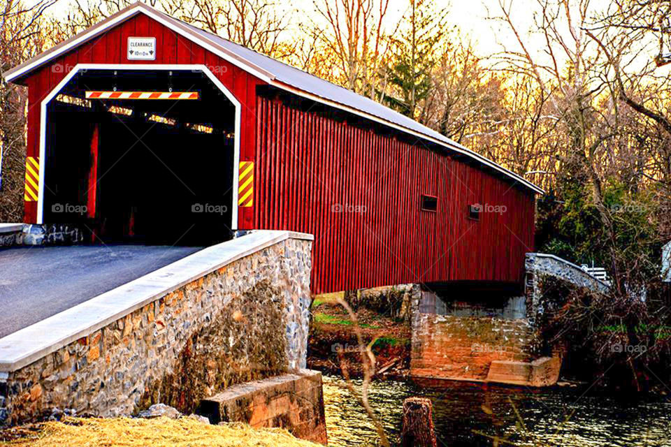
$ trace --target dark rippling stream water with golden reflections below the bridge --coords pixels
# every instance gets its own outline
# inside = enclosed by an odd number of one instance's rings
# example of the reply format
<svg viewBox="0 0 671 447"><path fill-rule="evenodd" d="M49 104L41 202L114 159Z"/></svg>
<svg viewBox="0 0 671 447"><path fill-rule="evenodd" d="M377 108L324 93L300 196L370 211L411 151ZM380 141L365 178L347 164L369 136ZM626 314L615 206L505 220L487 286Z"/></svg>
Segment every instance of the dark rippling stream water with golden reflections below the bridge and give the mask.
<svg viewBox="0 0 671 447"><path fill-rule="evenodd" d="M324 376L329 446L376 446L366 412L342 387ZM355 381L359 385L361 381ZM533 390L452 381L373 383L370 404L392 445L401 433L403 400L428 397L438 446L656 446L671 447L671 399L626 399L587 387Z"/></svg>

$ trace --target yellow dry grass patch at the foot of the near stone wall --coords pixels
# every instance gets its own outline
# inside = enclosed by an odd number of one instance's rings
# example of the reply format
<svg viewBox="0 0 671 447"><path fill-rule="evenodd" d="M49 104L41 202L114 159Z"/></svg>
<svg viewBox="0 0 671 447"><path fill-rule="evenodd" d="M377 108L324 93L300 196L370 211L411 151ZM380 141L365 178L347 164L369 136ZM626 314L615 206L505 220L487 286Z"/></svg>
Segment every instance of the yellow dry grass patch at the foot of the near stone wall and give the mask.
<svg viewBox="0 0 671 447"><path fill-rule="evenodd" d="M296 439L286 430L253 429L249 425L208 425L180 418L66 418L49 422L38 432L0 446L31 447L315 447L319 444Z"/></svg>

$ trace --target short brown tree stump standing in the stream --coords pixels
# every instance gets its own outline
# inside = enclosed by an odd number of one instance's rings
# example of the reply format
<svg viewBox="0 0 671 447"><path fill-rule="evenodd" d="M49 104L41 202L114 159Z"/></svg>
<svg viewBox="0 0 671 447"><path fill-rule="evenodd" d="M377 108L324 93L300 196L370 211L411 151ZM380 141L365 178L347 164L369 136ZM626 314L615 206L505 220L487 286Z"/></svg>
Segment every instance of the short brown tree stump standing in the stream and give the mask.
<svg viewBox="0 0 671 447"><path fill-rule="evenodd" d="M408 397L403 401L403 447L436 447L431 400Z"/></svg>

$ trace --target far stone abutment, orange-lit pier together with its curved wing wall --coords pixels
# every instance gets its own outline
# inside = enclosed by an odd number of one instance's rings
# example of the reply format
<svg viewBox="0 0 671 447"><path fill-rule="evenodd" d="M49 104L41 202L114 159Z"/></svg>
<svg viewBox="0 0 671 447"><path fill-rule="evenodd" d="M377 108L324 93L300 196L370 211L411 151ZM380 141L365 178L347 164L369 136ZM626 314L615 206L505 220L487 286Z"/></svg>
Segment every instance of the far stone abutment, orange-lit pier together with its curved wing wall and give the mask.
<svg viewBox="0 0 671 447"><path fill-rule="evenodd" d="M498 307L479 305L472 296L461 302L445 302L428 291L414 296L410 374L526 386L555 383L563 348L548 346L538 328L549 306L543 296L553 288L549 279L600 293L609 286L553 255L528 253L525 268L525 295L503 298Z"/></svg>

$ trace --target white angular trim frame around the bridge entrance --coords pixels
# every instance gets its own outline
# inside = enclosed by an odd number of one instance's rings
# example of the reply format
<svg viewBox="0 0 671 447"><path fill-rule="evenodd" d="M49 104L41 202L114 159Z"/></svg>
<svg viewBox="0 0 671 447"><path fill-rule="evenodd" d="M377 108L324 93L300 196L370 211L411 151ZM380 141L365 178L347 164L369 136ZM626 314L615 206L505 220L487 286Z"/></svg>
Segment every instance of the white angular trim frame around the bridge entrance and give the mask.
<svg viewBox="0 0 671 447"><path fill-rule="evenodd" d="M238 229L238 169L240 166L240 120L242 117L242 105L238 98L204 64L77 64L58 85L49 92L41 103L40 110L40 183L37 201L37 223L43 223L44 217L44 179L45 179L45 157L47 150L47 108L49 103L59 91L65 87L72 78L80 71L87 70L171 70L171 71L201 71L204 73L220 91L228 98L236 108L235 138L233 140L233 194L231 203L231 230Z"/></svg>

